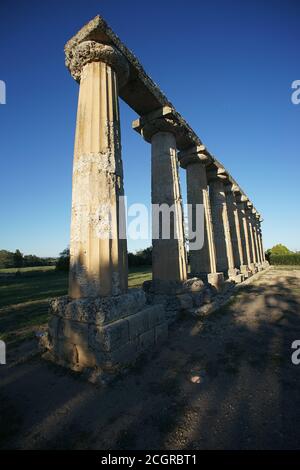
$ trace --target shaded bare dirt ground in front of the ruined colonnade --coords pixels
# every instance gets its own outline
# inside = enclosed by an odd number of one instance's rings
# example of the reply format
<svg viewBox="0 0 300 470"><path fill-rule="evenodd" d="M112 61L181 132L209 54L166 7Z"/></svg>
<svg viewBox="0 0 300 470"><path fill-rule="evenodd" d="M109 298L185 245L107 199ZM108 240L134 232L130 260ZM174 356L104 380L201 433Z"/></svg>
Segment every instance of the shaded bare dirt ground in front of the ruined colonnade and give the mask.
<svg viewBox="0 0 300 470"><path fill-rule="evenodd" d="M39 357L0 366L0 448L300 448L299 307L300 270L270 269L109 387Z"/></svg>

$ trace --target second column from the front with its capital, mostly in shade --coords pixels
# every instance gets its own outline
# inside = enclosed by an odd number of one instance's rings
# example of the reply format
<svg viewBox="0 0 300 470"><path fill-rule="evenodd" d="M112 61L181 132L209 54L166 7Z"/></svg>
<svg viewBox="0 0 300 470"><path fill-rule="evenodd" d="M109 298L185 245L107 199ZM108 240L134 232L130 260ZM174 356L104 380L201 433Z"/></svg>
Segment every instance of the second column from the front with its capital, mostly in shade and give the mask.
<svg viewBox="0 0 300 470"><path fill-rule="evenodd" d="M151 143L153 280L181 282L187 279L187 265L176 152L180 126L165 107L141 117L133 127Z"/></svg>

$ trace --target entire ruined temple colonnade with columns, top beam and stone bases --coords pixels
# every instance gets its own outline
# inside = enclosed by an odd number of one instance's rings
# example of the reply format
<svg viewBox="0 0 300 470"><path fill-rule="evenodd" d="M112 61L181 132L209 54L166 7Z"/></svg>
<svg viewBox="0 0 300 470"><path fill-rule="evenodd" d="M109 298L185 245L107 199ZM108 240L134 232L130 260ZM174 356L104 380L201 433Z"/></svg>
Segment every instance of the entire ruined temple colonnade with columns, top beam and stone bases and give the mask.
<svg viewBox="0 0 300 470"><path fill-rule="evenodd" d="M267 263L252 203L105 21L95 17L68 41L65 53L80 84L70 283L69 296L51 301L43 343L49 359L95 381L163 341L177 314L210 311L216 294L210 284L218 289L223 273L229 281L220 298L248 266L255 272ZM157 227L158 212L153 214L153 280L144 291L127 291L119 96L142 116L133 128L151 142L152 203L167 208L170 217ZM177 149L187 170L188 202L193 208L202 204L205 213L204 247L190 252L192 275L198 277L190 279ZM218 301L212 303L216 307Z"/></svg>

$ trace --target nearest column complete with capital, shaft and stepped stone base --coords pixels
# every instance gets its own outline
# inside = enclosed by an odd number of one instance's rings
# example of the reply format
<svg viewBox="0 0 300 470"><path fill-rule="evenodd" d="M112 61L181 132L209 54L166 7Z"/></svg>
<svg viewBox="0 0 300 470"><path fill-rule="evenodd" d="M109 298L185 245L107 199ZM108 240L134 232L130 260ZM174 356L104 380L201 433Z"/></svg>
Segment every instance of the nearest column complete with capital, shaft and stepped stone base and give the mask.
<svg viewBox="0 0 300 470"><path fill-rule="evenodd" d="M78 34L66 46L80 83L69 297L51 302L46 357L98 380L166 339L168 323L163 305L147 305L142 290L127 293L118 93L129 66L115 47Z"/></svg>

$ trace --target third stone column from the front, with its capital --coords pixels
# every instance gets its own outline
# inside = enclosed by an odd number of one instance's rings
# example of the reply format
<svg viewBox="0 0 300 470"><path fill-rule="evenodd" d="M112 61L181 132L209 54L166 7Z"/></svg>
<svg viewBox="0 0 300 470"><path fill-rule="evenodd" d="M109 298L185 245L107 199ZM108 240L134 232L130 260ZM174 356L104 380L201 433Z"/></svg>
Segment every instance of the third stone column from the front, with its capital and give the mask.
<svg viewBox="0 0 300 470"><path fill-rule="evenodd" d="M189 204L190 232L198 233L203 230L203 246L192 249L190 243L189 258L192 276L206 280L217 289L224 281L223 273L217 273L216 250L211 218L206 166L211 157L204 152L203 146L191 147L179 152L180 165L186 169L187 177L187 202ZM204 209L204 225L196 227L196 210L202 206Z"/></svg>

